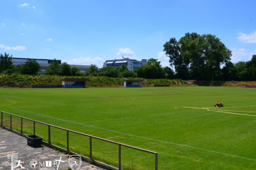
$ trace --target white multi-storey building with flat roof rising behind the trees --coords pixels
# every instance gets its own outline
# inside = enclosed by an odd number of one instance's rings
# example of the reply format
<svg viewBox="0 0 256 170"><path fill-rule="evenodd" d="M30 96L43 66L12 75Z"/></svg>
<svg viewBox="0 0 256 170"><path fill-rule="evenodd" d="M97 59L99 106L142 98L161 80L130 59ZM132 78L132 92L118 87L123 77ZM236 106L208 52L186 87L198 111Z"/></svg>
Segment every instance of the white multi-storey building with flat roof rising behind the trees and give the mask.
<svg viewBox="0 0 256 170"><path fill-rule="evenodd" d="M117 59L117 60L116 59L115 60L106 60L106 62L104 62L103 67L112 66L112 67L116 67L117 69L119 69L122 65L126 65L129 70L134 71L135 69L137 69L141 66L145 66L146 63L147 63L146 59L137 61L137 60L131 60L129 58L123 58L123 59Z"/></svg>

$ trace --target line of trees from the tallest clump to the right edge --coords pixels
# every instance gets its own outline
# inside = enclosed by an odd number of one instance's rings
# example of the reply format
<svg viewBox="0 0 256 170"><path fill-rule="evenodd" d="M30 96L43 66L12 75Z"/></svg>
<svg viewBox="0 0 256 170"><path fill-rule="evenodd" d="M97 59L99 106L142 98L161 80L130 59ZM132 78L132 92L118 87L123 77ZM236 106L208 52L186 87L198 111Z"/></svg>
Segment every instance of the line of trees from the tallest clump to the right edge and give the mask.
<svg viewBox="0 0 256 170"><path fill-rule="evenodd" d="M215 35L186 33L178 41L170 38L163 45L175 77L183 80L255 81L256 55L251 61L232 63L231 51Z"/></svg>

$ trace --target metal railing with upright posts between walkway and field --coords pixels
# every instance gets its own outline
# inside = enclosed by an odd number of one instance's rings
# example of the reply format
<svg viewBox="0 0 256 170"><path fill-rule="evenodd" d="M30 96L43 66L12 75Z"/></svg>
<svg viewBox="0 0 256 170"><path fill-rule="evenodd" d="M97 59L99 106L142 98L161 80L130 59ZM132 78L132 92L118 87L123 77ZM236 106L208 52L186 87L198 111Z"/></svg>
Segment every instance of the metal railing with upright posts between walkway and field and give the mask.
<svg viewBox="0 0 256 170"><path fill-rule="evenodd" d="M79 135L89 137L89 139L90 139L89 140L89 143L90 143L90 159L91 160L93 160L92 138L94 138L94 139L98 139L100 141L105 141L105 142L108 142L108 143L118 145L118 170L121 170L121 146L122 147L128 147L128 148L131 148L131 149L134 149L134 150L140 150L140 151L143 151L143 152L146 152L146 153L154 154L155 155L155 170L157 170L158 153L156 153L156 152L153 152L153 151L150 151L150 150L144 150L144 149L141 149L141 148L138 148L138 147L132 147L132 146L129 146L129 145L126 145L126 144L121 144L121 143L118 143L118 142L110 141L110 140L99 138L99 137L92 136L92 135L87 135L87 134L84 134L84 133L79 133L79 132L76 132L76 131L73 131L73 130L68 130L68 129L65 129L65 128L62 128L62 127L57 127L57 126L54 126L54 125L51 125L51 124L46 124L46 123L43 123L43 122L40 122L40 121L35 121L35 120L29 119L29 118L24 118L22 116L14 115L14 114L11 114L11 113L7 113L7 112L3 112L3 111L0 111L0 112L1 112L1 127L3 127L3 114L10 115L10 127L9 127L10 130L12 130L12 116L20 118L20 135L22 135L22 134L23 134L23 136L26 135L26 134L23 133L23 119L29 120L29 121L33 122L34 135L35 135L35 123L44 124L44 125L48 126L48 144L49 145L52 145L51 144L51 127L53 127L53 128L61 129L61 130L64 130L64 131L67 132L67 135L66 135L66 137L67 137L67 148L66 148L66 150L67 151L70 151L69 150L69 133L76 133L76 134L79 134ZM8 128L8 127L6 127L6 128ZM47 143L47 142L45 142L45 143ZM55 146L55 145L52 145L52 146ZM95 161L96 160L93 160L92 162L95 162Z"/></svg>

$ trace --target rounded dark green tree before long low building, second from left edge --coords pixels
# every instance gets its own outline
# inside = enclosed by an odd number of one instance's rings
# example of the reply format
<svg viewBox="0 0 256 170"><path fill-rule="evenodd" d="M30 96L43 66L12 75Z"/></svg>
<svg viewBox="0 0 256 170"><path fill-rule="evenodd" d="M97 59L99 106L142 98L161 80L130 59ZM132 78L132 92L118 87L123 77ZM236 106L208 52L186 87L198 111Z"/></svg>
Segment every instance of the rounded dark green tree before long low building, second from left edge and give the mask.
<svg viewBox="0 0 256 170"><path fill-rule="evenodd" d="M41 70L40 64L36 60L28 59L25 64L21 65L21 74L38 75Z"/></svg>

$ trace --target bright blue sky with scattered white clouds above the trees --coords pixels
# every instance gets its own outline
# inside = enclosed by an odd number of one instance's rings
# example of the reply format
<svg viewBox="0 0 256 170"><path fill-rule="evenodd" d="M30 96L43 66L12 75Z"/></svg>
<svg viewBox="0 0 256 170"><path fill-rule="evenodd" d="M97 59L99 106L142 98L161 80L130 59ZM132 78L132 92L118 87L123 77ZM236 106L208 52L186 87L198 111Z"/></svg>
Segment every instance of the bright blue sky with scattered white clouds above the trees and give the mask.
<svg viewBox="0 0 256 170"><path fill-rule="evenodd" d="M256 54L255 0L0 0L0 53L102 67L155 58L186 32L212 34L232 62Z"/></svg>

